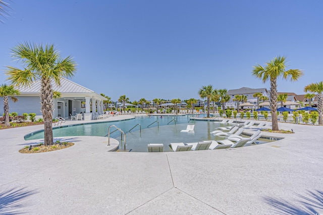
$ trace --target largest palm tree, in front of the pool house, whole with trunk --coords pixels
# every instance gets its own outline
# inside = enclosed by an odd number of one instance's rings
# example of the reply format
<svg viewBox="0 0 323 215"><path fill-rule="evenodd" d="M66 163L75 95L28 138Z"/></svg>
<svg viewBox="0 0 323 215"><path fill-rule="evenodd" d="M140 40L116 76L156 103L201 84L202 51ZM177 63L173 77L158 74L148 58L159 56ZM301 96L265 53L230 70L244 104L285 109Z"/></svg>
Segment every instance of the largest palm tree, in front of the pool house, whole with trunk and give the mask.
<svg viewBox="0 0 323 215"><path fill-rule="evenodd" d="M21 60L23 69L7 66L6 74L14 85L28 87L40 80L40 103L44 120L44 144L53 144L52 135L52 83L61 86L61 77L70 78L76 71L76 63L71 56L61 58L53 44L37 45L21 43L11 49L13 57Z"/></svg>

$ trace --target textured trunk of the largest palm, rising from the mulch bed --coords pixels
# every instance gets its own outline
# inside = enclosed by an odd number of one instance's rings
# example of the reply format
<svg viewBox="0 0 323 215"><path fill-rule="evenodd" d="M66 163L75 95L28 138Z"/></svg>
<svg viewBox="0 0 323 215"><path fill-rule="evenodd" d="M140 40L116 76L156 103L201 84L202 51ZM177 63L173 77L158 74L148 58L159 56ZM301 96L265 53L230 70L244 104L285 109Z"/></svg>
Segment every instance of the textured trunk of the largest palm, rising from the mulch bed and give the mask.
<svg viewBox="0 0 323 215"><path fill-rule="evenodd" d="M44 145L52 145L52 89L50 79L41 79L40 103L44 120Z"/></svg>

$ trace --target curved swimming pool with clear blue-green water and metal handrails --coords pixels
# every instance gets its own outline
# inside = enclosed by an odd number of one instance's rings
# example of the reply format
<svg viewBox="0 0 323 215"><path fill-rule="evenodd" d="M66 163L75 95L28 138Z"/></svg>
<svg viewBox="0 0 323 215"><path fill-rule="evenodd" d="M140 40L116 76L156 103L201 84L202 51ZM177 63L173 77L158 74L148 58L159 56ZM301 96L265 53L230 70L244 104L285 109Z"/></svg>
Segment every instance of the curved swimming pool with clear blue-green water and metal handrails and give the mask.
<svg viewBox="0 0 323 215"><path fill-rule="evenodd" d="M199 117L203 117L200 115ZM211 131L219 126L226 126L227 124L214 123L213 121L195 121L190 120L192 115L185 116L136 116L134 119L79 124L61 128L53 129L53 136L107 136L110 125L116 125L126 133L126 148L131 149L131 152L147 152L147 144L164 144L164 152L172 151L169 147L171 142L197 142L202 140L220 140L222 137L215 137L210 134ZM175 124L176 120L176 124ZM158 121L158 123L156 122ZM151 124L153 123L153 124ZM140 126L135 125L141 124ZM150 125L151 124L151 125ZM169 125L168 125L169 124ZM186 129L187 124L195 124L194 133L180 132ZM150 126L149 126L150 125ZM229 125L229 124L228 124ZM149 126L147 128L147 126ZM130 129L131 132L128 132ZM119 148L123 149L123 140L121 140L120 131L116 131L111 127L110 137L119 140ZM26 140L44 138L43 131L34 132L32 135L25 136ZM262 144L266 141L257 141Z"/></svg>

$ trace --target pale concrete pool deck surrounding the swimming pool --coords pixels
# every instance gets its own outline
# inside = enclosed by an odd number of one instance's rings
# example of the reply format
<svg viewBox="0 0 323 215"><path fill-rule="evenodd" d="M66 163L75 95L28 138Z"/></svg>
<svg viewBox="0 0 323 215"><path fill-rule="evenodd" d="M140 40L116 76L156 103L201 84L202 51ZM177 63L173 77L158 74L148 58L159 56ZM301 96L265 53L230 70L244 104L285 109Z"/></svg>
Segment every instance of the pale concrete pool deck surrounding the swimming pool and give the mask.
<svg viewBox="0 0 323 215"><path fill-rule="evenodd" d="M42 128L0 130L0 214L323 214L323 126L280 122L295 133L228 150L108 152L118 143L75 136L20 154Z"/></svg>

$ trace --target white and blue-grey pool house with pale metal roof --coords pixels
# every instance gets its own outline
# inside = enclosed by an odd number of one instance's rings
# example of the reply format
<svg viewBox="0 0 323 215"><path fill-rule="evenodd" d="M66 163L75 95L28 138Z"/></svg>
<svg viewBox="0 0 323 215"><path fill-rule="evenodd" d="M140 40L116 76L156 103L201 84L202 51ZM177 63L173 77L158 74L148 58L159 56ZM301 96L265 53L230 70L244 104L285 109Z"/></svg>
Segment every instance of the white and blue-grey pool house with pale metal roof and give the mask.
<svg viewBox="0 0 323 215"><path fill-rule="evenodd" d="M36 113L36 119L42 118L40 105L40 81L36 81L27 88L20 88L19 96L16 103L9 101L10 113L17 112L18 115L23 113ZM52 90L61 93L61 98L53 99L53 118L69 118L70 115L77 113L103 112L103 101L105 97L78 85L68 79L61 78L61 86L56 86L52 81ZM10 98L9 98L10 99ZM81 106L85 102L85 107ZM0 98L3 104L3 98ZM2 115L2 113L0 112Z"/></svg>

